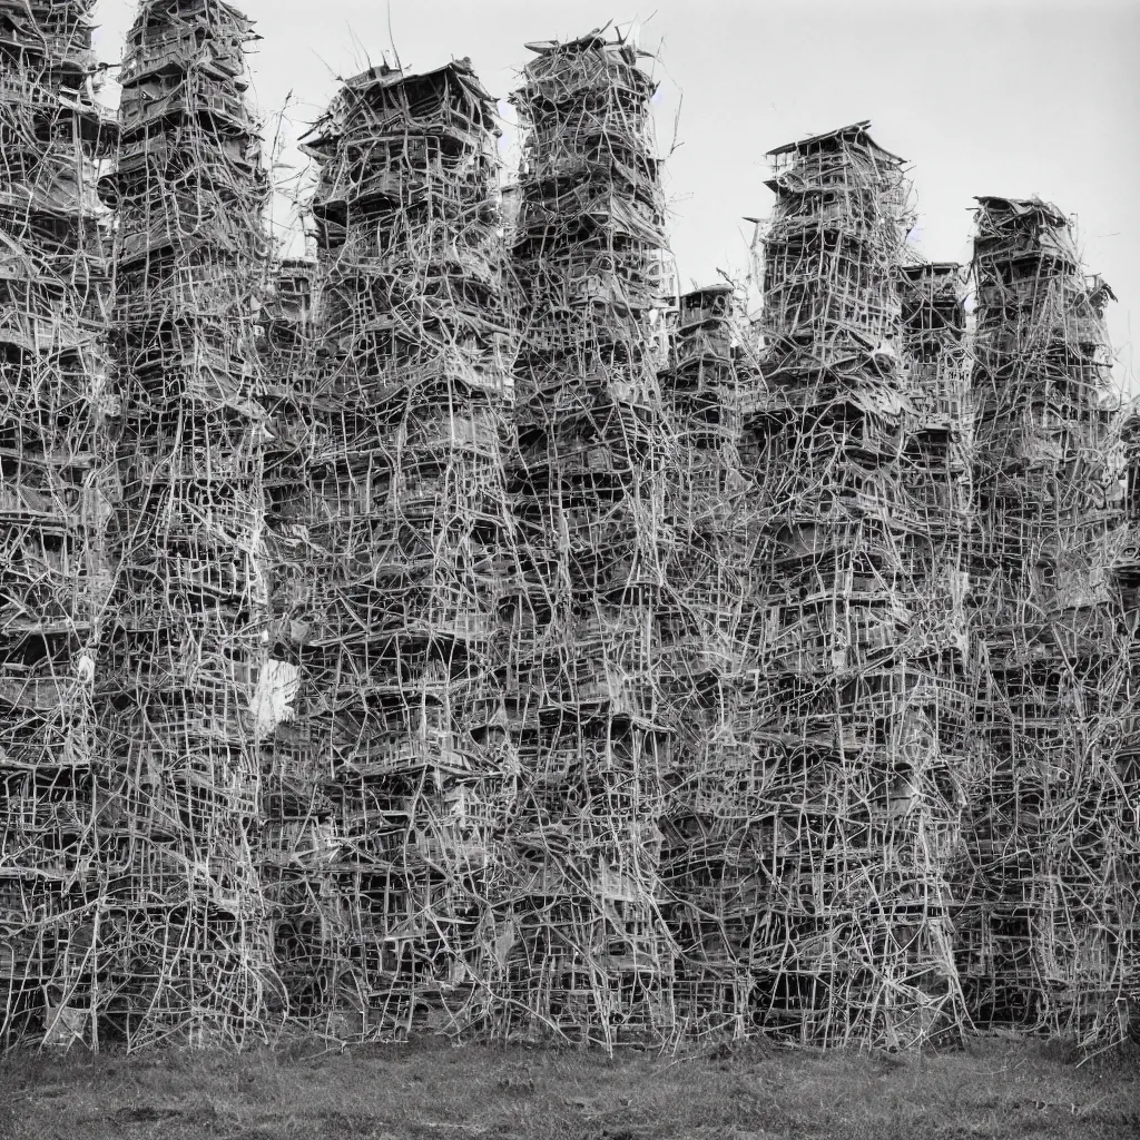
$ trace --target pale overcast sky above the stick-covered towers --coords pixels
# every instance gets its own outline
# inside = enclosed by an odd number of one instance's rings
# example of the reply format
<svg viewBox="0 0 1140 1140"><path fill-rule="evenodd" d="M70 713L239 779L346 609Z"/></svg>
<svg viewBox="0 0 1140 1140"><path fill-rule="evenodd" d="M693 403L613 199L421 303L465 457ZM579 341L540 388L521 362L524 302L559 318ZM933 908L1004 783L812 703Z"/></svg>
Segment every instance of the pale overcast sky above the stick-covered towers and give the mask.
<svg viewBox="0 0 1140 1140"><path fill-rule="evenodd" d="M1135 391L1140 339L1138 0L245 0L262 41L260 112L293 92L303 131L345 78L389 50L405 68L470 56L505 98L523 43L614 18L660 49L658 135L668 162L682 283L740 274L771 195L765 152L870 119L911 163L918 238L935 260L969 256L974 195L1042 197L1076 217L1090 272L1119 302L1109 327ZM100 56L115 60L135 10L103 0ZM286 128L286 133L290 128ZM1134 316L1134 319L1133 319Z"/></svg>

